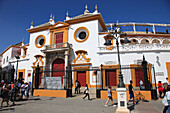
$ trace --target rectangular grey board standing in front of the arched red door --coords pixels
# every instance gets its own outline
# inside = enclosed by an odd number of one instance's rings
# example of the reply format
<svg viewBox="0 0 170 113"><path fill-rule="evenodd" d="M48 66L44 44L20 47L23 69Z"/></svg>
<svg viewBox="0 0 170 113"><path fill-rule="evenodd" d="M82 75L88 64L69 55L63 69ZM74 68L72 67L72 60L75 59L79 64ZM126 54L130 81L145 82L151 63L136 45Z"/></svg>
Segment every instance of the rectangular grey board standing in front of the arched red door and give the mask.
<svg viewBox="0 0 170 113"><path fill-rule="evenodd" d="M62 89L61 77L46 77L47 89Z"/></svg>

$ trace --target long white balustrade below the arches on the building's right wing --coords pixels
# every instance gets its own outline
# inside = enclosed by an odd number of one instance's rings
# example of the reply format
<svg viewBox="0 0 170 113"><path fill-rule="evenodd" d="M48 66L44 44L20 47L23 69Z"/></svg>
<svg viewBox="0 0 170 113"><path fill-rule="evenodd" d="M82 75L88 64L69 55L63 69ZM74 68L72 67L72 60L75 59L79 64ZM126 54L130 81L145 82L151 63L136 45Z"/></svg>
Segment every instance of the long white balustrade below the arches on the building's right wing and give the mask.
<svg viewBox="0 0 170 113"><path fill-rule="evenodd" d="M98 54L105 53L117 53L116 46L109 46L112 48L108 50L108 47L98 47ZM119 46L121 53L128 52L161 52L161 51L170 51L170 44L137 44L137 45L121 45Z"/></svg>

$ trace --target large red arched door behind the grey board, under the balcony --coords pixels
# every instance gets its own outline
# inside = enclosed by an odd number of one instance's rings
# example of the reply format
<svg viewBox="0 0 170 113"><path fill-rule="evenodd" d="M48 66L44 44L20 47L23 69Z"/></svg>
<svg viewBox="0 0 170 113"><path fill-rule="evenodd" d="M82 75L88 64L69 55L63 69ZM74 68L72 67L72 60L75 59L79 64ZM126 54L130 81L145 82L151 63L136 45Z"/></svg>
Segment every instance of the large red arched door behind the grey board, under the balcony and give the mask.
<svg viewBox="0 0 170 113"><path fill-rule="evenodd" d="M64 70L65 70L65 62L63 59L56 59L53 61L52 64L52 77L61 77L62 84L63 84L63 76L64 76Z"/></svg>

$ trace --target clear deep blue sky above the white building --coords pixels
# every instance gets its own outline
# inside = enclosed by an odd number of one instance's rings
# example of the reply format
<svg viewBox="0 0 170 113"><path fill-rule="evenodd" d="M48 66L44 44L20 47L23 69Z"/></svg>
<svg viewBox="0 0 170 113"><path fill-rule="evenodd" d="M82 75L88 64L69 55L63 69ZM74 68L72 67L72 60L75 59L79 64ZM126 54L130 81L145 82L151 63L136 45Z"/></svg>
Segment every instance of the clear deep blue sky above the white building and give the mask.
<svg viewBox="0 0 170 113"><path fill-rule="evenodd" d="M170 24L170 0L0 0L0 53L24 38L29 43L31 21L34 25L48 22L50 14L55 22L64 21L66 12L77 16L85 10L94 12L95 5L105 23L144 22Z"/></svg>

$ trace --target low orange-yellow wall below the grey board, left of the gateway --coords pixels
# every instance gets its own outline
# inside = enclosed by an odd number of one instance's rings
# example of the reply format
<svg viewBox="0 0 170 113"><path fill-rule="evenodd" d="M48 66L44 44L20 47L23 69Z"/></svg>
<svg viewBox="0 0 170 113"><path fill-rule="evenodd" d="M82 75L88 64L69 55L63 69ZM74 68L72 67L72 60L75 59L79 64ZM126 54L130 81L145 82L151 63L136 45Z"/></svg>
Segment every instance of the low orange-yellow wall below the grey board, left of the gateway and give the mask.
<svg viewBox="0 0 170 113"><path fill-rule="evenodd" d="M67 97L67 90L43 90L35 89L33 96L44 96L44 97Z"/></svg>

